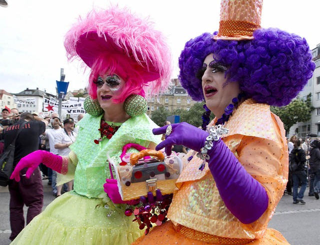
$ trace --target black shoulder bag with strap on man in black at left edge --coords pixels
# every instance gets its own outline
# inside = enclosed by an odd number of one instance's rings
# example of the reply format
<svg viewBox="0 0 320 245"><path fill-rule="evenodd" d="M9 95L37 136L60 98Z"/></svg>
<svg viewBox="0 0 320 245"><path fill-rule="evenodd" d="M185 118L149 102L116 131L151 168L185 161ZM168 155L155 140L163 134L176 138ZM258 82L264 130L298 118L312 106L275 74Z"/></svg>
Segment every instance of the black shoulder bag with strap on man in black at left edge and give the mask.
<svg viewBox="0 0 320 245"><path fill-rule="evenodd" d="M26 122L22 123L20 125L20 128L18 132L16 133L16 136L14 140L11 142L11 144L3 151L1 157L0 157L0 186L7 186L8 181L10 179L11 173L13 172L13 160L14 160L14 145L15 140L18 137L21 129L24 127L24 124Z"/></svg>

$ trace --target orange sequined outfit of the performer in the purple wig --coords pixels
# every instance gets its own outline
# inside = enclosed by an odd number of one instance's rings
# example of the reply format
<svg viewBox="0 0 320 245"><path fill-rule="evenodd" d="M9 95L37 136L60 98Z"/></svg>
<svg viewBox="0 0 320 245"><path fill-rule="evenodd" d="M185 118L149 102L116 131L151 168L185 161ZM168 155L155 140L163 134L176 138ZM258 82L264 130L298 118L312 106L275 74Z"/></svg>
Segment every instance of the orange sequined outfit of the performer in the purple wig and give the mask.
<svg viewBox="0 0 320 245"><path fill-rule="evenodd" d="M265 212L250 224L241 223L224 205L207 163L199 170L202 160L191 151L184 157L185 167L176 182L178 191L168 211L171 221L154 227L132 244L288 244L278 231L267 229L288 175L282 122L268 105L248 99L224 127L229 132L223 142L267 192Z"/></svg>

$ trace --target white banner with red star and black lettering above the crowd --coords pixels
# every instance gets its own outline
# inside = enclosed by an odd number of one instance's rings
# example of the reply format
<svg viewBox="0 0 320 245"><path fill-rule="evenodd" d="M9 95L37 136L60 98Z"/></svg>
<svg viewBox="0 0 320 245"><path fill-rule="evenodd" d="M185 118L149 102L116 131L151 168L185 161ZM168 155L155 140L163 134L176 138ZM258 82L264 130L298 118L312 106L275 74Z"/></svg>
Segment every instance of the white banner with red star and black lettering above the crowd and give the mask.
<svg viewBox="0 0 320 245"><path fill-rule="evenodd" d="M84 114L85 110L83 107L83 102L85 98L70 97L69 100L62 101L61 103L61 119L65 119L67 115L76 122L77 116L79 114ZM43 98L43 111L52 113L58 112L59 101L50 97L50 99Z"/></svg>

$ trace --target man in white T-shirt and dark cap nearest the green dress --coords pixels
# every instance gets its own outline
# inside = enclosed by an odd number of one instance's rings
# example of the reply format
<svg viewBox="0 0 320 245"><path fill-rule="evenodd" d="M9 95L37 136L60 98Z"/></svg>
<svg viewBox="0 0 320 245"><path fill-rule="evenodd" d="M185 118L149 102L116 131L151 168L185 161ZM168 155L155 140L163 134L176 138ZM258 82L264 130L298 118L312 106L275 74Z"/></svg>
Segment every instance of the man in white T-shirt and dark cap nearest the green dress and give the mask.
<svg viewBox="0 0 320 245"><path fill-rule="evenodd" d="M67 118L63 121L64 128L54 136L54 148L58 150L58 155L68 156L70 153L69 146L75 141L76 133L73 132L74 121L72 118ZM58 173L59 174L59 173ZM73 180L66 183L68 191L72 190ZM61 195L62 185L57 186L56 196Z"/></svg>

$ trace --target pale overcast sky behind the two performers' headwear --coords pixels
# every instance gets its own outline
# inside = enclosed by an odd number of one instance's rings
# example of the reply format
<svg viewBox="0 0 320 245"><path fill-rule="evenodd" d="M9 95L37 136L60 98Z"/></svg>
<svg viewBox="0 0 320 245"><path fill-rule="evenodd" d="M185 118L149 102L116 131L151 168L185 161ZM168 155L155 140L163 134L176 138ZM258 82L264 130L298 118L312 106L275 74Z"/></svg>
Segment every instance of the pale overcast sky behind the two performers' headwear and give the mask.
<svg viewBox="0 0 320 245"><path fill-rule="evenodd" d="M78 62L67 63L63 36L77 17L93 6L109 3L127 6L149 16L168 38L177 78L177 59L186 41L203 32L218 30L219 0L6 0L0 7L0 89L19 93L29 88L55 94L60 68L68 91L84 88L87 74ZM263 28L277 27L304 37L310 49L320 43L318 0L264 0Z"/></svg>

